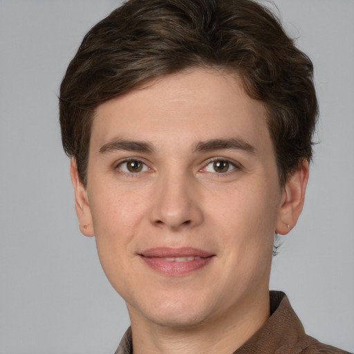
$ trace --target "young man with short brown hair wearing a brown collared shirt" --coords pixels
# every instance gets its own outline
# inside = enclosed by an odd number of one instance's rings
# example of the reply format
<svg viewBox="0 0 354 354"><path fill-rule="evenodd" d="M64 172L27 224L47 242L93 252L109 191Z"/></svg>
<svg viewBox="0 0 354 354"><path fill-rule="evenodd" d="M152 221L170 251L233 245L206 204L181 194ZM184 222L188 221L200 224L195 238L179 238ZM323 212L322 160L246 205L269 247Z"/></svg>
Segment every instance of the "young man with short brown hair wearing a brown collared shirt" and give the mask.
<svg viewBox="0 0 354 354"><path fill-rule="evenodd" d="M313 66L250 0L131 0L68 66L80 230L131 329L116 353L344 353L269 293L312 156Z"/></svg>

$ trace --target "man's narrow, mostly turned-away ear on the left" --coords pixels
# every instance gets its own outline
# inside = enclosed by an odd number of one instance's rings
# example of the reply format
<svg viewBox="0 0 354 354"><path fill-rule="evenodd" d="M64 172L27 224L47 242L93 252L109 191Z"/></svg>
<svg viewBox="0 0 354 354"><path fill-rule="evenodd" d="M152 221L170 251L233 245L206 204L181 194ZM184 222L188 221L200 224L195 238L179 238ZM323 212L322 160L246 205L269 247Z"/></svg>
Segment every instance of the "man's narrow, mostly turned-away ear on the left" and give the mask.
<svg viewBox="0 0 354 354"><path fill-rule="evenodd" d="M74 187L75 209L77 218L79 219L79 227L85 236L93 236L93 223L91 209L88 204L86 188L82 184L79 174L77 173L77 165L75 158L71 158L70 164L71 182Z"/></svg>

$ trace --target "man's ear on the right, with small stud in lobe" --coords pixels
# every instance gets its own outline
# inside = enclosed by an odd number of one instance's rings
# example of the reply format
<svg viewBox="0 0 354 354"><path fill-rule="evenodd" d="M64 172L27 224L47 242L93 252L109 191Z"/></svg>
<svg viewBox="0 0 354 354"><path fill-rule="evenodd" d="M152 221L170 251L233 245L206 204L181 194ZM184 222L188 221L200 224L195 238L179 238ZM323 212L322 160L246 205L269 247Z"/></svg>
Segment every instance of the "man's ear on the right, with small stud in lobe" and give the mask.
<svg viewBox="0 0 354 354"><path fill-rule="evenodd" d="M283 189L275 228L278 234L288 234L296 225L304 206L307 182L308 161L304 160L301 167L288 178Z"/></svg>

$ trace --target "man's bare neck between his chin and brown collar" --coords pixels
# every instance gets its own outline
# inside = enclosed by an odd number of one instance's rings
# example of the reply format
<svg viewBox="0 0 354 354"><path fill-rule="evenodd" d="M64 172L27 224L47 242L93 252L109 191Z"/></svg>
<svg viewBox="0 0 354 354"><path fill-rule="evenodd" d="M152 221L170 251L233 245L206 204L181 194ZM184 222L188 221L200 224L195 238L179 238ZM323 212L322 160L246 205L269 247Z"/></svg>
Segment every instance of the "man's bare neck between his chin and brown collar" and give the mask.
<svg viewBox="0 0 354 354"><path fill-rule="evenodd" d="M129 306L128 306L129 308ZM252 337L270 315L268 289L192 327L161 326L129 308L133 354L230 354Z"/></svg>

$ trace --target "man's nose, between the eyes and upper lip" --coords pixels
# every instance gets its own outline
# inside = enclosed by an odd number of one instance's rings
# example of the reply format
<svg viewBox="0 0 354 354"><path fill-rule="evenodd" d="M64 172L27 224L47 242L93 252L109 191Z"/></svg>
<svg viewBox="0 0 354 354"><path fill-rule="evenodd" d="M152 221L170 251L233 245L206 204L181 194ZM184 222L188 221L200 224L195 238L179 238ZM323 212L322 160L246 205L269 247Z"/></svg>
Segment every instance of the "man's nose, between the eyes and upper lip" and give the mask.
<svg viewBox="0 0 354 354"><path fill-rule="evenodd" d="M201 199L192 176L160 176L151 207L151 223L178 231L203 223Z"/></svg>

